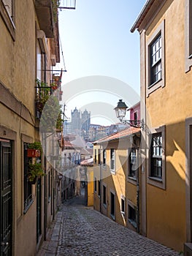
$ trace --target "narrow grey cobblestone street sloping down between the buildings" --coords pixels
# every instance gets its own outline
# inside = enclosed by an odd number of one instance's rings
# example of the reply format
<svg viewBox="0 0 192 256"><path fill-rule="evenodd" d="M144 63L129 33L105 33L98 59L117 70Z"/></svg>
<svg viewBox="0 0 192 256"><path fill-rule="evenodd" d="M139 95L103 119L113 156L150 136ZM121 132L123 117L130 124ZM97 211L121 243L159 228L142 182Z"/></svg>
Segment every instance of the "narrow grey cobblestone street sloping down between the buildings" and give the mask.
<svg viewBox="0 0 192 256"><path fill-rule="evenodd" d="M50 237L37 256L50 255L180 255L172 249L118 225L92 207L83 197L64 203Z"/></svg>

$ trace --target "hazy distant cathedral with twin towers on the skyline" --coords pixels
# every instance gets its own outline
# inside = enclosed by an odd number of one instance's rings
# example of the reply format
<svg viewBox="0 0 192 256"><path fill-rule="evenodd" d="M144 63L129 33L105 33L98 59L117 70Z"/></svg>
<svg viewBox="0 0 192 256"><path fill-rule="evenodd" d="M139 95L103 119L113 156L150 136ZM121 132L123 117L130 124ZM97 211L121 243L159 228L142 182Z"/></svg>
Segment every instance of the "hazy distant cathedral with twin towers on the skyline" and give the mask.
<svg viewBox="0 0 192 256"><path fill-rule="evenodd" d="M88 110L81 112L75 108L72 111L71 129L72 132L80 132L84 138L88 137L88 130L91 124L91 113Z"/></svg>

